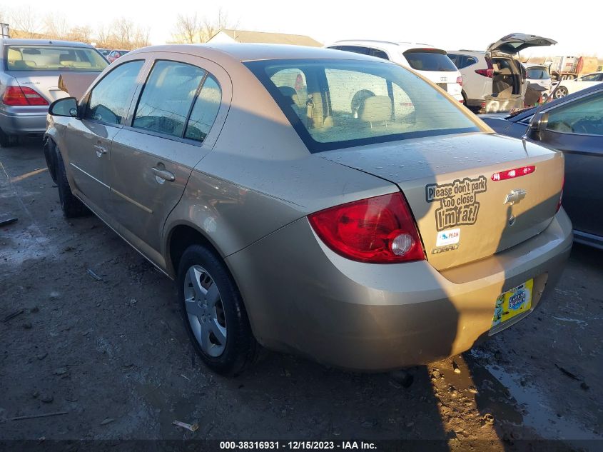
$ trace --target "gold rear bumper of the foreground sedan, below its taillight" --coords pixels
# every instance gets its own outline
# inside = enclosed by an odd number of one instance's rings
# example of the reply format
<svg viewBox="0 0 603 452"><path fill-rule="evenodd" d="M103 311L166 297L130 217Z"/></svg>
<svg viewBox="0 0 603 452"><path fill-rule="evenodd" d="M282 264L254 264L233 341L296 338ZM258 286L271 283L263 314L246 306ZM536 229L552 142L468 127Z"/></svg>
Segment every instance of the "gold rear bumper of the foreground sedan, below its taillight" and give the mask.
<svg viewBox="0 0 603 452"><path fill-rule="evenodd" d="M226 262L264 346L341 368L385 371L471 348L490 334L497 296L529 278L537 308L571 246L572 224L561 210L528 241L438 272L427 261L350 261L324 246L304 218Z"/></svg>

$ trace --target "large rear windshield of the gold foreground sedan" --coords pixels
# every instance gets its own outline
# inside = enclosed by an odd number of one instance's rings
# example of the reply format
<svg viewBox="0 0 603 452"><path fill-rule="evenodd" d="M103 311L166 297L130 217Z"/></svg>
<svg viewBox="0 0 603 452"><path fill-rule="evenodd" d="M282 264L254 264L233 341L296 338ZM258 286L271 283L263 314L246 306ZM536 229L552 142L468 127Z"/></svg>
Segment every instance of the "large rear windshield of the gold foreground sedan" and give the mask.
<svg viewBox="0 0 603 452"><path fill-rule="evenodd" d="M245 65L311 152L480 130L444 94L397 64L268 60Z"/></svg>

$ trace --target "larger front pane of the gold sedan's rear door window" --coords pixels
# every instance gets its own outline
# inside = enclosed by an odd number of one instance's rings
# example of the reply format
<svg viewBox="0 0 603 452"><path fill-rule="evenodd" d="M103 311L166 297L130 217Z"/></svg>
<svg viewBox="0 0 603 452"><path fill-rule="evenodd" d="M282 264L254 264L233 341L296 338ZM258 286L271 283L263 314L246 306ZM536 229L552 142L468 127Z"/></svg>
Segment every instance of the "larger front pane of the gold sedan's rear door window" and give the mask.
<svg viewBox="0 0 603 452"><path fill-rule="evenodd" d="M156 61L141 94L133 127L181 137L203 69L176 61Z"/></svg>

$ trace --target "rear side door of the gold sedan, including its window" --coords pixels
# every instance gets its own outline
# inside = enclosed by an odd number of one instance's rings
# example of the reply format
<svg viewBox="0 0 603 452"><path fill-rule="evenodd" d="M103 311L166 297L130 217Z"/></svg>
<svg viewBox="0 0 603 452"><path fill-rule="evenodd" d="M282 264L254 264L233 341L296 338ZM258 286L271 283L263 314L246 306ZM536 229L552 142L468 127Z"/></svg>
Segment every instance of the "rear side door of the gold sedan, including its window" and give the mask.
<svg viewBox="0 0 603 452"><path fill-rule="evenodd" d="M230 79L211 61L168 54L153 62L128 126L111 149L111 208L119 231L161 263L161 234L194 166L211 150ZM223 107L221 109L221 107ZM226 110L225 110L226 109Z"/></svg>

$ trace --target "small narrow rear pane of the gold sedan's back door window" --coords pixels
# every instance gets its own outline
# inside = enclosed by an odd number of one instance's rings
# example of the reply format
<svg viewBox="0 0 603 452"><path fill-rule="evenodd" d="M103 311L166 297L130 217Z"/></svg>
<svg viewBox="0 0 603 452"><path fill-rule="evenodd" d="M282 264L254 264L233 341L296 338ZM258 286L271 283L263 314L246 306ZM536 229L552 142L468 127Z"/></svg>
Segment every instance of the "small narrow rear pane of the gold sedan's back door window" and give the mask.
<svg viewBox="0 0 603 452"><path fill-rule="evenodd" d="M191 111L184 138L203 142L213 126L213 121L216 121L221 101L222 91L218 81L208 75Z"/></svg>

